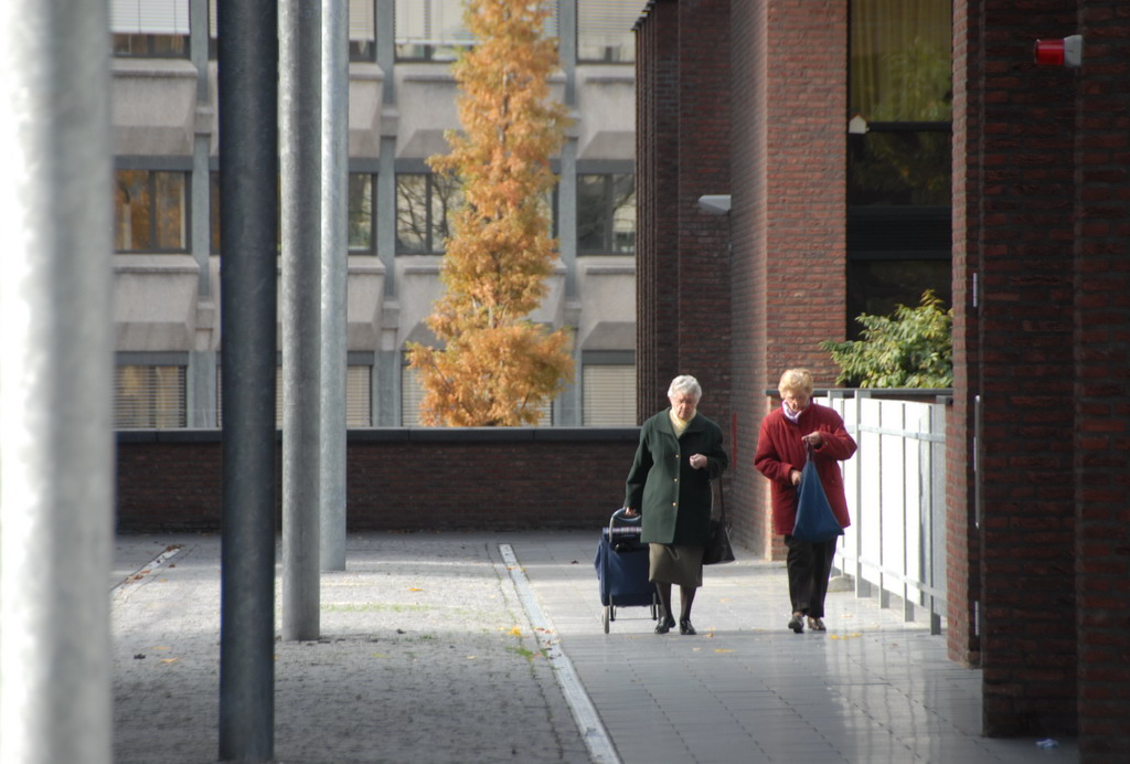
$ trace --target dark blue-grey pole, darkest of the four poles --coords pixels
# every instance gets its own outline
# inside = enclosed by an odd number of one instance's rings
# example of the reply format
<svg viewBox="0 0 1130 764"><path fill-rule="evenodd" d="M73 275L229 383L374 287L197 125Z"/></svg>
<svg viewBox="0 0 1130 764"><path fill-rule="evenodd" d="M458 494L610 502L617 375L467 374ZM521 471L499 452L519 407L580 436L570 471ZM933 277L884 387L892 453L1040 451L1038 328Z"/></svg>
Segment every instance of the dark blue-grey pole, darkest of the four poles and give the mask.
<svg viewBox="0 0 1130 764"><path fill-rule="evenodd" d="M221 2L219 160L224 506L219 758L275 747L278 8Z"/></svg>

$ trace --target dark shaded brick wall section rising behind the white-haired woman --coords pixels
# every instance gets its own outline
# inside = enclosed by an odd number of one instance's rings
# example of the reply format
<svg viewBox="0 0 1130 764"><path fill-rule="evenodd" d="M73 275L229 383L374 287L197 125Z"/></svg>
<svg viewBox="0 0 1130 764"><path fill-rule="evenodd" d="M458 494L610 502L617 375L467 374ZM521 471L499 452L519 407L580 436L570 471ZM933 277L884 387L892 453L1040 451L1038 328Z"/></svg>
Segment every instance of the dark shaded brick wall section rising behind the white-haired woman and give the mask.
<svg viewBox="0 0 1130 764"><path fill-rule="evenodd" d="M730 192L730 0L658 0L636 26L637 416L677 374L704 413L730 409L729 219L699 197Z"/></svg>

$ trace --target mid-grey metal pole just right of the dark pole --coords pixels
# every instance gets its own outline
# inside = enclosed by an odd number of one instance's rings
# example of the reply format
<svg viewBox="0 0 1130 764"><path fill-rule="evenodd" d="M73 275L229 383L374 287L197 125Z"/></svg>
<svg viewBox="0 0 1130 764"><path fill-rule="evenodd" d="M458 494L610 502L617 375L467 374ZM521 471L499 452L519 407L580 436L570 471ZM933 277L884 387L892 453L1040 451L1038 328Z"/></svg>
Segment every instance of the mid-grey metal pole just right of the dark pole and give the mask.
<svg viewBox="0 0 1130 764"><path fill-rule="evenodd" d="M320 2L279 3L282 160L282 639L319 637Z"/></svg>

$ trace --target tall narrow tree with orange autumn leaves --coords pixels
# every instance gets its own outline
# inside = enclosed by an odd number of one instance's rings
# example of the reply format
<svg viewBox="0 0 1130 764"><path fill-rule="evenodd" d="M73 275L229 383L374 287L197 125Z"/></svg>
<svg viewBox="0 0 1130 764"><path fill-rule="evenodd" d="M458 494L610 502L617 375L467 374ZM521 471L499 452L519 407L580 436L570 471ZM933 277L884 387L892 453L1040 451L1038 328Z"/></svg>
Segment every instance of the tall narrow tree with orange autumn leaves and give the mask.
<svg viewBox="0 0 1130 764"><path fill-rule="evenodd" d="M573 377L568 330L529 318L556 258L549 157L567 119L549 95L557 44L541 33L546 15L529 0L468 2L476 43L453 67L462 131L447 133L450 154L428 159L463 197L440 270L446 292L426 319L442 347L409 345L426 424L534 424Z"/></svg>

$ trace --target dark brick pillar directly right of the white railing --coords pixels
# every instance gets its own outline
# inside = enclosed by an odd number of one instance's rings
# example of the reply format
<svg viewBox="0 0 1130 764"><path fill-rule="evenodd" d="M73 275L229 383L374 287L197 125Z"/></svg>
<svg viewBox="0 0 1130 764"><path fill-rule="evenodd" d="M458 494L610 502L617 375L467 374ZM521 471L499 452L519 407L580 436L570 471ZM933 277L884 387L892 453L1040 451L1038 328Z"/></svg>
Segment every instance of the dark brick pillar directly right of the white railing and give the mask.
<svg viewBox="0 0 1130 764"><path fill-rule="evenodd" d="M950 645L970 659L980 648L986 733L1070 733L1076 78L1036 67L1033 44L1070 33L1075 3L955 6L965 33L955 93L964 95L955 120L962 151L955 157L955 222L964 218L964 229L955 262L957 403L947 433L950 583L958 588L950 598ZM976 396L981 458L973 474ZM982 500L976 526L970 479ZM962 565L970 576L964 590ZM973 613L980 639L970 627Z"/></svg>

